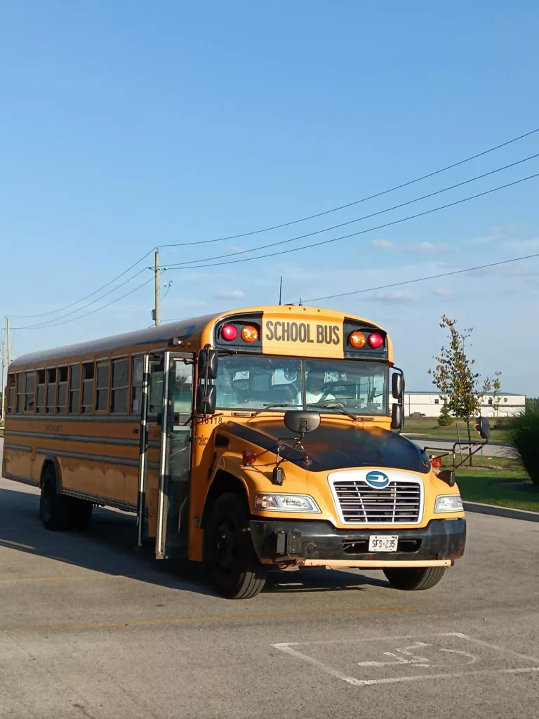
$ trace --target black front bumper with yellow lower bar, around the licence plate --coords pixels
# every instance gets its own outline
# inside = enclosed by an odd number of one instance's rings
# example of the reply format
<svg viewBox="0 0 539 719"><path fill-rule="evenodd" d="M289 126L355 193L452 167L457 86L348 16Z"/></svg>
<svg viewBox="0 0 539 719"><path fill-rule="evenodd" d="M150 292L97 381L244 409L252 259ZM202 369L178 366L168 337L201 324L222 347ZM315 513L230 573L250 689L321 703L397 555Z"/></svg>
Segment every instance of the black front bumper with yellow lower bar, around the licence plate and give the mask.
<svg viewBox="0 0 539 719"><path fill-rule="evenodd" d="M254 551L264 564L346 567L435 567L464 554L466 520L433 519L413 529L335 529L328 522L253 519ZM370 552L371 534L398 535L397 551Z"/></svg>

